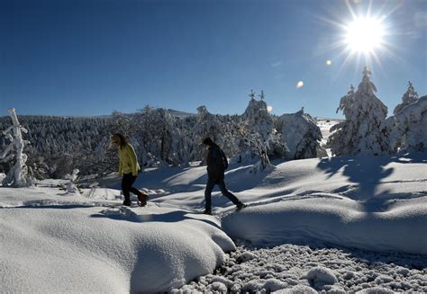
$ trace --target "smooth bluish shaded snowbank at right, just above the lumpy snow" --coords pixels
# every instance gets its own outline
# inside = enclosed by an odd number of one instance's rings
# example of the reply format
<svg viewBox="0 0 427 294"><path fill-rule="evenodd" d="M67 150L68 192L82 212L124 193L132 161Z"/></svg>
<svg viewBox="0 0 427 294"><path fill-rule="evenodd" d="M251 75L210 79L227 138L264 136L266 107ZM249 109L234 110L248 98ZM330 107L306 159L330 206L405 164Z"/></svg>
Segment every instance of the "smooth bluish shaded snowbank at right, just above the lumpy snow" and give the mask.
<svg viewBox="0 0 427 294"><path fill-rule="evenodd" d="M339 195L285 198L227 215L222 225L232 238L253 245L320 240L372 251L427 254L426 200L389 200L381 211L372 211L363 202Z"/></svg>

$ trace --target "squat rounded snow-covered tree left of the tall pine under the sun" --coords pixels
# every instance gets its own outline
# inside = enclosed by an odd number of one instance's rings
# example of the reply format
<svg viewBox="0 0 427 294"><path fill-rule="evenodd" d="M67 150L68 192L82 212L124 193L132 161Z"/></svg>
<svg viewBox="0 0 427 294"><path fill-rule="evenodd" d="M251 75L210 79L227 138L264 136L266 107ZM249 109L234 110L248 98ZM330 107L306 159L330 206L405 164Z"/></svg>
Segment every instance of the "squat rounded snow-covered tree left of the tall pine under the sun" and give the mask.
<svg viewBox="0 0 427 294"><path fill-rule="evenodd" d="M286 144L288 159L302 159L327 156L326 150L320 145L322 132L316 121L304 113L304 108L291 114L283 114L277 118L276 128Z"/></svg>

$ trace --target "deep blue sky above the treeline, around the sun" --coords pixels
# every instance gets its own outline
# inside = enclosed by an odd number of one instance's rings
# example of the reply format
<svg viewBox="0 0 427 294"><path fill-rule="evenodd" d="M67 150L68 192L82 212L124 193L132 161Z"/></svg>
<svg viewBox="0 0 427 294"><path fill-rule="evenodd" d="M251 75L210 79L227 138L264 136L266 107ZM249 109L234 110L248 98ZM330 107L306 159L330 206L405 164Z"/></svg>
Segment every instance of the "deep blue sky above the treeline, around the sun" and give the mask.
<svg viewBox="0 0 427 294"><path fill-rule="evenodd" d="M100 115L149 104L196 112L200 105L241 114L253 89L273 113L336 114L364 60L345 64L338 23L368 0L0 3L0 116ZM387 15L388 50L371 65L377 97L389 109L407 81L427 94L427 1L375 1ZM326 60L332 65L327 66ZM298 81L304 86L297 88Z"/></svg>

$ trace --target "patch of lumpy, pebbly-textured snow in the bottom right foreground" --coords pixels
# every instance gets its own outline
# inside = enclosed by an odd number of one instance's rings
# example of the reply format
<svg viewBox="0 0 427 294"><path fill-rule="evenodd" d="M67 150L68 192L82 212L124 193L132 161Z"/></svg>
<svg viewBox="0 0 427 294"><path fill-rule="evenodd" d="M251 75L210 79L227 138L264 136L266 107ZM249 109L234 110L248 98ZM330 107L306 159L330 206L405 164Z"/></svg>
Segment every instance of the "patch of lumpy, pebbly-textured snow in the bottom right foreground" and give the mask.
<svg viewBox="0 0 427 294"><path fill-rule="evenodd" d="M241 259L241 255L248 253L256 253L256 257L249 261ZM419 255L378 254L324 244L278 245L272 248L246 244L239 245L213 274L172 292L204 292L213 282L220 281L227 285L228 290L234 289L235 292L358 293L381 288L425 293L426 266L426 259ZM407 267L413 269L408 270ZM402 272L402 269L407 272Z"/></svg>

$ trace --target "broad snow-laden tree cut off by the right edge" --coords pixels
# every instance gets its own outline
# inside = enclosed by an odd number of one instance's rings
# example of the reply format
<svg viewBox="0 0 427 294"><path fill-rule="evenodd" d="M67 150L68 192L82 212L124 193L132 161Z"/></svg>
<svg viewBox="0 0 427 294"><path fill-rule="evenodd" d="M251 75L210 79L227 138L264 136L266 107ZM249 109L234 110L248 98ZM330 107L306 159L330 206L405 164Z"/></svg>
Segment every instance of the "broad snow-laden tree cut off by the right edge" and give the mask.
<svg viewBox="0 0 427 294"><path fill-rule="evenodd" d="M393 151L427 150L427 96L407 105L386 121Z"/></svg>

